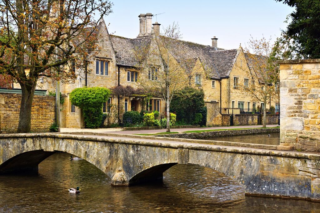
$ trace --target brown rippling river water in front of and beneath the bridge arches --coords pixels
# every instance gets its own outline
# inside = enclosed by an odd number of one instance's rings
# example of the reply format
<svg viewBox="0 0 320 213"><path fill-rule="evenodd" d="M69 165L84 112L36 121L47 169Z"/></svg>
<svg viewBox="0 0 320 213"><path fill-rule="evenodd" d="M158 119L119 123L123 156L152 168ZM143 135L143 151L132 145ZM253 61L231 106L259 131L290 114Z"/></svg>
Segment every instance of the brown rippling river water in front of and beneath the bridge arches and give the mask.
<svg viewBox="0 0 320 213"><path fill-rule="evenodd" d="M56 153L37 174L0 176L1 212L320 212L320 203L244 196L244 188L210 168L175 165L158 183L113 187L85 160ZM80 194L69 194L79 186Z"/></svg>

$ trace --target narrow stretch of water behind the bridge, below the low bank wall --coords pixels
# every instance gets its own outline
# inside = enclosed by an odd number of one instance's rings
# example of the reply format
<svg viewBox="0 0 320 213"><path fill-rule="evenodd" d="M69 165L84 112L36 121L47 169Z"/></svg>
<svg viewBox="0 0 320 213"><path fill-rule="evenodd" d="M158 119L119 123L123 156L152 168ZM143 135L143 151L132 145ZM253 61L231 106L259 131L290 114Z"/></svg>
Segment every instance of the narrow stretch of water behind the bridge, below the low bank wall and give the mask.
<svg viewBox="0 0 320 213"><path fill-rule="evenodd" d="M232 142L239 142L239 143L279 145L280 133L259 133L259 134L220 136L220 137L199 138L199 139L212 140L212 141L232 141ZM204 143L210 143L210 142L204 142Z"/></svg>

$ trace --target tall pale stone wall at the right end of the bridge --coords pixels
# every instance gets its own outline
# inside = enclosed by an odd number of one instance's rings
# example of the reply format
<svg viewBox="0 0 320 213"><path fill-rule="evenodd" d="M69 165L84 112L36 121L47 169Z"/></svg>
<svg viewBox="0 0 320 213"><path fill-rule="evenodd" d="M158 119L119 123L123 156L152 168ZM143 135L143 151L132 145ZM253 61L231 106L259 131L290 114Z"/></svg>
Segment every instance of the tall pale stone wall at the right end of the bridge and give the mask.
<svg viewBox="0 0 320 213"><path fill-rule="evenodd" d="M280 61L280 145L320 151L320 59Z"/></svg>

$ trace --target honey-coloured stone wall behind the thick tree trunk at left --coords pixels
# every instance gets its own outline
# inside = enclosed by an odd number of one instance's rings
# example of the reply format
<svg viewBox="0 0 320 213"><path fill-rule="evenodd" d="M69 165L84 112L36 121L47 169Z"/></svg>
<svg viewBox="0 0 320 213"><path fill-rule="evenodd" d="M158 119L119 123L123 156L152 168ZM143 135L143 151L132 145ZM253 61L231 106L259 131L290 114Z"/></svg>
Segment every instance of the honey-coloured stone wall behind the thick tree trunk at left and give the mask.
<svg viewBox="0 0 320 213"><path fill-rule="evenodd" d="M21 95L0 93L0 133L16 133ZM55 121L55 97L35 95L31 109L31 132L49 132Z"/></svg>

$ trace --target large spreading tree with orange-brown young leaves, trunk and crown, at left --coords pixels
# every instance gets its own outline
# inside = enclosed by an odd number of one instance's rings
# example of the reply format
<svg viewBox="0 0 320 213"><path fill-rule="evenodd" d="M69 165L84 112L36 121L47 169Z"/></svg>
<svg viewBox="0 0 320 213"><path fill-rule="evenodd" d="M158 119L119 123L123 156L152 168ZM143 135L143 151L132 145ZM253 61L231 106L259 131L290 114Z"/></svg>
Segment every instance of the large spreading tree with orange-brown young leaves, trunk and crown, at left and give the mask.
<svg viewBox="0 0 320 213"><path fill-rule="evenodd" d="M18 133L30 131L39 77L75 79L66 66L81 68L96 49L97 24L111 5L108 0L0 0L0 74L21 86Z"/></svg>

